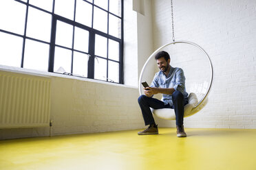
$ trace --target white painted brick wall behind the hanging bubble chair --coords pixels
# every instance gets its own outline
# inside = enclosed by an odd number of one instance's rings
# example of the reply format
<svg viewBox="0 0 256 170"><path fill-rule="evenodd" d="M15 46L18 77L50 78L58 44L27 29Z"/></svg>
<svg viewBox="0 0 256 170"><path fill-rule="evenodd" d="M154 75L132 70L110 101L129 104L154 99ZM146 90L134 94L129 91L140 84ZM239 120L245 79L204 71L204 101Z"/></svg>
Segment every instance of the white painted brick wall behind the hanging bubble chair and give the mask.
<svg viewBox="0 0 256 170"><path fill-rule="evenodd" d="M170 4L152 1L155 49L171 42ZM184 125L256 128L256 1L173 0L173 5L175 39L201 45L211 56L215 73L209 104L184 119Z"/></svg>

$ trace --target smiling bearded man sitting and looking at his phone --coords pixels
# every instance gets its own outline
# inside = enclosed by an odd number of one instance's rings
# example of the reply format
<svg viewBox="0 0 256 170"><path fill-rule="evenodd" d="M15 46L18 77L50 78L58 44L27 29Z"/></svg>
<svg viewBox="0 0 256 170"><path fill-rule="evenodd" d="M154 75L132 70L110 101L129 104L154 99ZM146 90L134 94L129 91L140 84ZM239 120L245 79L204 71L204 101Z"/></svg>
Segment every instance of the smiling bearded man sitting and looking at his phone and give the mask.
<svg viewBox="0 0 256 170"><path fill-rule="evenodd" d="M188 93L185 88L184 72L170 65L170 56L166 51L160 51L155 56L160 71L156 73L150 87L144 88L145 95L138 98L145 125L149 125L142 134L158 134L158 125L153 119L150 108L173 108L176 117L177 136L186 137L183 126L184 105L188 104ZM162 101L153 95L162 93Z"/></svg>

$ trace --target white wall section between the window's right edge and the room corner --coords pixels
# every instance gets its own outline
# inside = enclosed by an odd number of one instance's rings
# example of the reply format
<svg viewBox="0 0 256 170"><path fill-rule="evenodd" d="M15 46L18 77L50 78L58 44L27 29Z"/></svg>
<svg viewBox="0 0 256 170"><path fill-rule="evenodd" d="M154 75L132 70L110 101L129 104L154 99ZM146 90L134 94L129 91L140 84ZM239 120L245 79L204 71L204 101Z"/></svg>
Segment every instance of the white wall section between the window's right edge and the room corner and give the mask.
<svg viewBox="0 0 256 170"><path fill-rule="evenodd" d="M131 9L133 11L131 11ZM125 0L125 84L138 87L145 61L153 52L151 0ZM149 77L153 71L146 73Z"/></svg>

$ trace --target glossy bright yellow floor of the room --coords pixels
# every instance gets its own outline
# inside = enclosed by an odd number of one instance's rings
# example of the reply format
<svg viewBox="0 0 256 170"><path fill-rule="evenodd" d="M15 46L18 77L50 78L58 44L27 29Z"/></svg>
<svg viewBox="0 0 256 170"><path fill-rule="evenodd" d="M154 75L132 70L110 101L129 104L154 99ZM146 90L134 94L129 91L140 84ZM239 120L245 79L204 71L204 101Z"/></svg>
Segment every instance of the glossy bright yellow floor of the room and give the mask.
<svg viewBox="0 0 256 170"><path fill-rule="evenodd" d="M0 141L0 169L256 169L256 130L174 128Z"/></svg>

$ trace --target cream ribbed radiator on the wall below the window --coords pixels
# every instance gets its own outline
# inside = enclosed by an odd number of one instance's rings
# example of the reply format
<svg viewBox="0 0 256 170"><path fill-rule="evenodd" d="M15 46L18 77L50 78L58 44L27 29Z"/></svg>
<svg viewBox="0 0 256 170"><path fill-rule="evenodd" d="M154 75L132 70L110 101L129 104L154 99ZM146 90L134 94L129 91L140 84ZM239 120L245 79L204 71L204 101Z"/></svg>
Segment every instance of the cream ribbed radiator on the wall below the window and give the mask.
<svg viewBox="0 0 256 170"><path fill-rule="evenodd" d="M50 77L0 71L0 128L50 123Z"/></svg>

